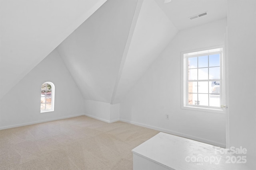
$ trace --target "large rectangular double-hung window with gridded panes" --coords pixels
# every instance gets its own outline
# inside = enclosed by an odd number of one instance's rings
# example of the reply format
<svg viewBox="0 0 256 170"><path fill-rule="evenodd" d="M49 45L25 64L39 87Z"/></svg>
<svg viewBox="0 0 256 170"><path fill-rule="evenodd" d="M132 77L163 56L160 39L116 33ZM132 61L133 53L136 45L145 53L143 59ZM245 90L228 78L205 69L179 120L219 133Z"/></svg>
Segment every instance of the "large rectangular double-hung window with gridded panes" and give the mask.
<svg viewBox="0 0 256 170"><path fill-rule="evenodd" d="M183 53L183 108L222 111L223 48Z"/></svg>

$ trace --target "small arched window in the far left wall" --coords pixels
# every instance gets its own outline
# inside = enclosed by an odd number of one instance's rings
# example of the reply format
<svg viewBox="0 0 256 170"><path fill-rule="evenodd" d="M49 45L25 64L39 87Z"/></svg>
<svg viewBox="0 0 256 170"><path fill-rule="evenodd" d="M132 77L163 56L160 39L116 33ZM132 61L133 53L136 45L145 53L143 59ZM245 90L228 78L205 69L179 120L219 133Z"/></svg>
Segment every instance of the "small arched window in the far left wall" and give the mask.
<svg viewBox="0 0 256 170"><path fill-rule="evenodd" d="M54 84L45 82L41 86L41 113L54 111Z"/></svg>

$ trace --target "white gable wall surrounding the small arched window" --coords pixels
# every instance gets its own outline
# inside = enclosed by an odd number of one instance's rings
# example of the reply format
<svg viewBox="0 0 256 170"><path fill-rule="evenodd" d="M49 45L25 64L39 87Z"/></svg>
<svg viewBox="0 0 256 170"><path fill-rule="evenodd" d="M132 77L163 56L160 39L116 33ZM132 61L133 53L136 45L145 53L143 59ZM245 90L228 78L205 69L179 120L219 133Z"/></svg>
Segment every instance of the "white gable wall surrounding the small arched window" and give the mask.
<svg viewBox="0 0 256 170"><path fill-rule="evenodd" d="M54 111L40 113L41 86L47 81L55 85ZM54 50L1 99L0 129L81 114L82 95Z"/></svg>

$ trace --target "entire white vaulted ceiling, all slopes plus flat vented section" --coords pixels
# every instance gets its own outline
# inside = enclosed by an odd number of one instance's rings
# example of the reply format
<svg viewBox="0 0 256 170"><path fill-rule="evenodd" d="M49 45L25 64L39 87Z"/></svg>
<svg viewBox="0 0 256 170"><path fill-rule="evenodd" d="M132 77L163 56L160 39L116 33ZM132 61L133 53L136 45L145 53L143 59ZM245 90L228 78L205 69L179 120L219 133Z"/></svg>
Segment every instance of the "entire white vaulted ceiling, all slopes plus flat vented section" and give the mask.
<svg viewBox="0 0 256 170"><path fill-rule="evenodd" d="M226 18L226 0L2 0L0 10L0 97L56 48L84 99L116 104L179 30Z"/></svg>

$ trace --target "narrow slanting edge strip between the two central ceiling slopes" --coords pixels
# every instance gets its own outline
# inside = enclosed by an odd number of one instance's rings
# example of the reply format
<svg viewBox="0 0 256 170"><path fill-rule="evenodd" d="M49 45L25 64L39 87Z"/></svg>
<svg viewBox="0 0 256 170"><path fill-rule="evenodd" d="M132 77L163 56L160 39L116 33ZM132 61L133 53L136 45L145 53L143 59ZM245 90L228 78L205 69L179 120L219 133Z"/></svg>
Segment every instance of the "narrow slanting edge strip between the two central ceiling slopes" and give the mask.
<svg viewBox="0 0 256 170"><path fill-rule="evenodd" d="M126 57L127 57L128 51L129 51L129 47L130 47L130 44L131 44L131 41L132 41L132 36L133 36L134 30L135 30L135 27L136 27L136 24L137 24L137 20L138 20L139 14L140 14L140 9L142 7L142 3L143 3L143 0L137 0L137 5L136 5L135 11L134 11L132 24L130 26L130 31L128 33L126 45L124 47L124 53L123 53L123 56L122 56L122 61L120 63L118 76L116 78L116 83L115 83L115 86L114 86L114 90L113 90L113 93L112 93L110 104L113 104L115 96L116 96L116 90L118 88L118 84L119 84L120 78L122 76L122 71L123 71L124 64L125 64L125 61L126 61Z"/></svg>

